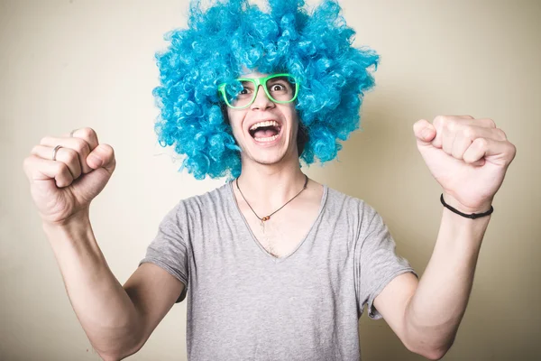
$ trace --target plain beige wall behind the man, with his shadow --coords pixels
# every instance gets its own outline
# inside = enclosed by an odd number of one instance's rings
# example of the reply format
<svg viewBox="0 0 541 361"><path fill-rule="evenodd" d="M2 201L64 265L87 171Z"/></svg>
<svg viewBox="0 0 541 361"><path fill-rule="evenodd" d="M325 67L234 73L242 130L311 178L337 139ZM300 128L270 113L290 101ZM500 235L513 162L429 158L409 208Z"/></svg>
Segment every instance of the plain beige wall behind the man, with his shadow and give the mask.
<svg viewBox="0 0 541 361"><path fill-rule="evenodd" d="M310 2L312 4L314 2ZM365 199L422 273L442 212L412 125L439 114L491 117L518 148L495 201L470 305L445 360L534 360L541 353L541 2L344 1L356 45L381 54L363 132L309 176ZM96 360L71 309L32 204L23 158L42 136L93 127L115 148L115 175L91 218L124 283L178 199L223 180L177 172L155 142L162 34L187 0L0 1L0 359ZM363 360L419 360L383 320L363 316ZM277 346L280 347L280 346ZM186 302L133 360L186 359Z"/></svg>

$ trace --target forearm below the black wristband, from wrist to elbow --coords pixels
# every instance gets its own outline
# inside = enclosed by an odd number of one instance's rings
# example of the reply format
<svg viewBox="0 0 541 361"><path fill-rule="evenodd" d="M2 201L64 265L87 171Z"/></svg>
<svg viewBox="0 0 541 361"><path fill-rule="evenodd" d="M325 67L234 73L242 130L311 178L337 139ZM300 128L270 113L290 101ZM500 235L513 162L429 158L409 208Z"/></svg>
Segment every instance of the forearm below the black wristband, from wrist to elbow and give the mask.
<svg viewBox="0 0 541 361"><path fill-rule="evenodd" d="M463 218L444 208L433 255L405 314L408 338L417 348L445 353L453 344L489 221L490 216Z"/></svg>

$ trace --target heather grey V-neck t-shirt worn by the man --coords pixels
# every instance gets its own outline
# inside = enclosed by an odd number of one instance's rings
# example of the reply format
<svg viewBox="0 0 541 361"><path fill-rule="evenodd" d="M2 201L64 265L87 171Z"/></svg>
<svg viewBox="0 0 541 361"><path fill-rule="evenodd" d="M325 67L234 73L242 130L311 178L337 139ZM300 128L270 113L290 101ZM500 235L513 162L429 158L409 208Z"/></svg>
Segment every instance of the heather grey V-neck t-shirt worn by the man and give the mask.
<svg viewBox="0 0 541 361"><path fill-rule="evenodd" d="M324 186L318 216L289 255L253 236L232 182L180 200L146 257L187 287L188 359L360 360L364 305L414 270L395 253L381 216L361 199ZM416 274L417 275L417 274Z"/></svg>

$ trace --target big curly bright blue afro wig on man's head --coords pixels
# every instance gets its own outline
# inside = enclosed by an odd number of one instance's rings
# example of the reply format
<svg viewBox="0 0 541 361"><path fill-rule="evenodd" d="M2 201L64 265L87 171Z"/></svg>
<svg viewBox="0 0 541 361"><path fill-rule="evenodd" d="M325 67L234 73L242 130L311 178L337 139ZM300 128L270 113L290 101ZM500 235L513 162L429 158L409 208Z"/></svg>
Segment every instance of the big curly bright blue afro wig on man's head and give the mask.
<svg viewBox="0 0 541 361"><path fill-rule="evenodd" d="M269 13L247 0L206 10L200 3L190 3L188 29L167 32L168 49L156 53L155 131L161 146L185 155L180 170L198 180L240 175L241 149L217 89L243 69L299 80L299 157L307 164L333 160L340 141L360 126L363 92L374 85L368 68L379 62L375 51L352 46L355 32L340 5L325 0L308 14L304 0L269 0Z"/></svg>

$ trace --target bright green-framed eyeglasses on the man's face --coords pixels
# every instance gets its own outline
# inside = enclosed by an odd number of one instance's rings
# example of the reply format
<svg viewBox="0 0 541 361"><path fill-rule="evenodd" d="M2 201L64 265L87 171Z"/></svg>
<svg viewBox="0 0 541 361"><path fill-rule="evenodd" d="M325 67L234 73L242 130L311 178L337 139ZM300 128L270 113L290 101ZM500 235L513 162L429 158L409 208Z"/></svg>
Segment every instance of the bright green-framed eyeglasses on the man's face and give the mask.
<svg viewBox="0 0 541 361"><path fill-rule="evenodd" d="M227 106L243 109L252 105L260 85L274 103L291 103L297 99L298 81L290 74L272 74L265 78L240 78L231 84L220 84L218 91L224 97Z"/></svg>

